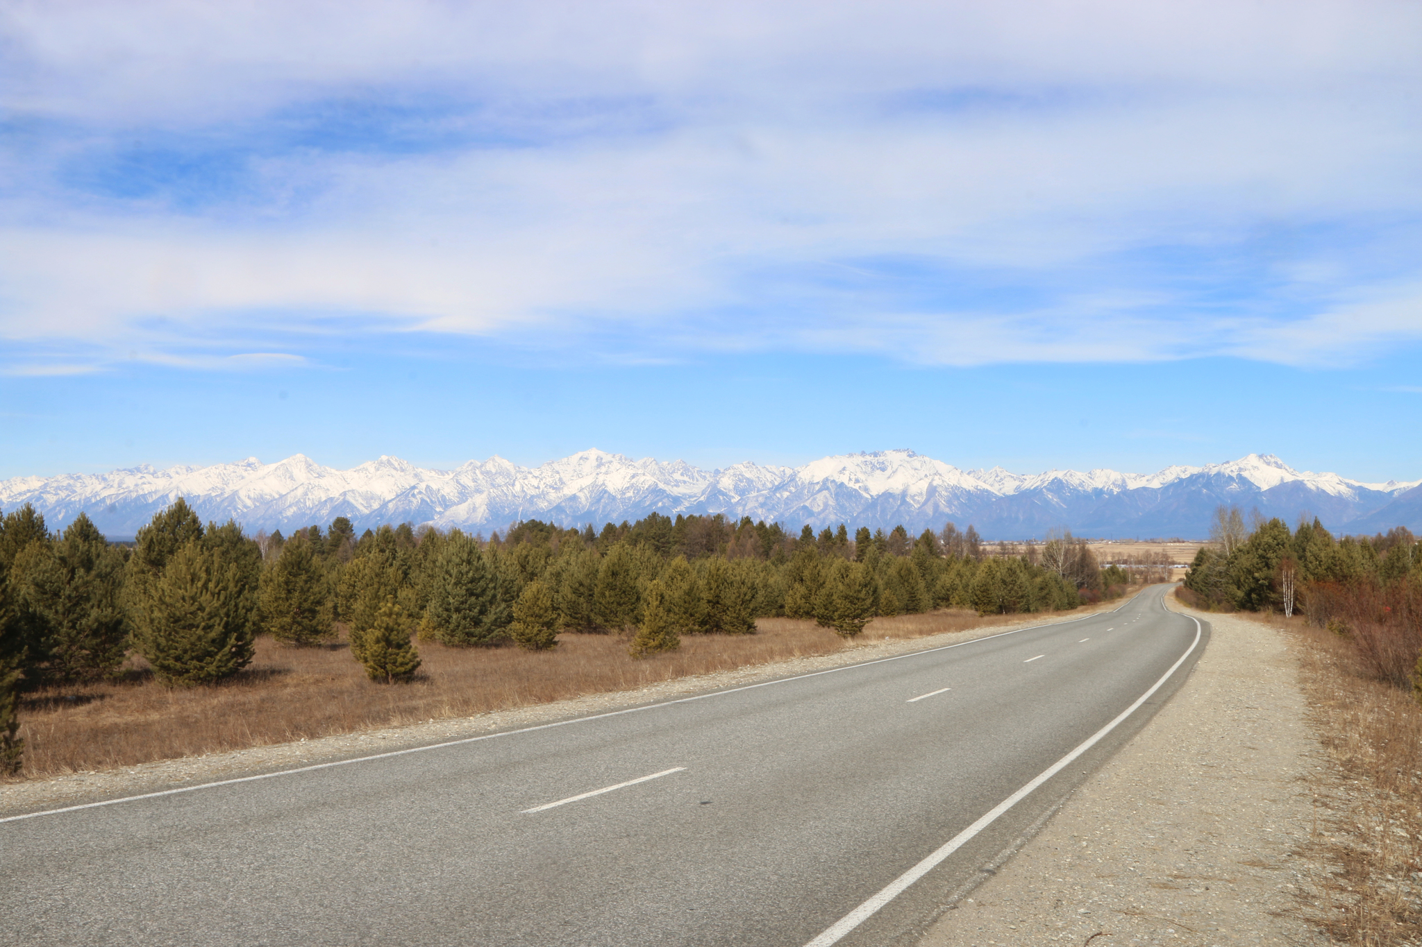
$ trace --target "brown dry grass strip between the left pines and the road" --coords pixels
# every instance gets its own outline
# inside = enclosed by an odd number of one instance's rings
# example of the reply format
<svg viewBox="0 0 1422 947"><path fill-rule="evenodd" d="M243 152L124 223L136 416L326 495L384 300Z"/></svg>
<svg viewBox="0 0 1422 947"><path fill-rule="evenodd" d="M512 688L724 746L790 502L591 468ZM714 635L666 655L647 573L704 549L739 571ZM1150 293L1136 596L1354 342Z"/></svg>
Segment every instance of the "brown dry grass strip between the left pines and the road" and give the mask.
<svg viewBox="0 0 1422 947"><path fill-rule="evenodd" d="M1024 618L957 611L903 615L875 619L863 637L923 637ZM134 673L127 683L30 696L20 716L23 777L468 717L852 646L811 620L761 619L758 629L747 636L688 636L680 650L646 660L629 657L627 639L614 635L560 635L552 652L464 650L421 642L419 677L395 686L367 680L344 643L286 647L263 637L252 666L219 686L169 689Z"/></svg>

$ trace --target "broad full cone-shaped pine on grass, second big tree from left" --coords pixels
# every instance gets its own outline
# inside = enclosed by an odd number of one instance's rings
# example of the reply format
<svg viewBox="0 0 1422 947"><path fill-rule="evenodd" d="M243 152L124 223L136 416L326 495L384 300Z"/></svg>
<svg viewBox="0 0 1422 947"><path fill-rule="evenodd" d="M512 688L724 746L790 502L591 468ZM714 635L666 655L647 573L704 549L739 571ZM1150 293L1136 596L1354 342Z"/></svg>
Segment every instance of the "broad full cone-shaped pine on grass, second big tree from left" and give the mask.
<svg viewBox="0 0 1422 947"><path fill-rule="evenodd" d="M159 680L202 684L230 677L252 660L250 618L242 598L237 566L191 540L168 557L149 585L134 645Z"/></svg>

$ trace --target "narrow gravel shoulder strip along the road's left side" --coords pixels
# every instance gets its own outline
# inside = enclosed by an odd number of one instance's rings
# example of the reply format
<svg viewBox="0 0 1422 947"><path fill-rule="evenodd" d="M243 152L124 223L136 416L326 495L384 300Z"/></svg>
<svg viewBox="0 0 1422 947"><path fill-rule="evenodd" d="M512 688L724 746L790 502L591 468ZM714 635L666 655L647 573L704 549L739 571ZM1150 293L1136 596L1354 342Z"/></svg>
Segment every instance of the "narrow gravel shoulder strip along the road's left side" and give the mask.
<svg viewBox="0 0 1422 947"><path fill-rule="evenodd" d="M364 730L320 740L301 740L297 743L252 747L232 752L183 757L179 760L159 760L135 767L75 772L48 779L0 782L0 816L81 805L144 792L158 792L183 785L240 778L317 762L387 752L405 747L428 745L447 740L533 727L557 720L586 717L589 714L660 703L690 694L739 687L762 680L792 677L795 674L956 645L991 635L1001 635L1003 632L1020 628L1069 622L1086 615L1112 611L1119 605L1121 602L1111 602L1094 608L1082 608L1045 620L1041 616L1024 615L1021 622L993 625L970 632L951 632L913 639L863 639L833 655L798 657L711 674L694 674L637 690L586 694L574 700L498 710L475 717L431 720L422 724Z"/></svg>

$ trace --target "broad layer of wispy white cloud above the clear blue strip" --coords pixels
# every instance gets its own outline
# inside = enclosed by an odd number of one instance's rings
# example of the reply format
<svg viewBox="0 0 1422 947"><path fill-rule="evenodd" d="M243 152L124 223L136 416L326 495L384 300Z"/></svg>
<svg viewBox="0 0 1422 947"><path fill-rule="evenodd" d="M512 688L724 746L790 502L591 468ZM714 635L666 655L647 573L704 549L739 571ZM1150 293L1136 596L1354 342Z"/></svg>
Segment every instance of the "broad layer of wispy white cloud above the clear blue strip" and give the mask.
<svg viewBox="0 0 1422 947"><path fill-rule="evenodd" d="M24 6L0 336L1362 359L1422 341L1419 28L1372 3Z"/></svg>

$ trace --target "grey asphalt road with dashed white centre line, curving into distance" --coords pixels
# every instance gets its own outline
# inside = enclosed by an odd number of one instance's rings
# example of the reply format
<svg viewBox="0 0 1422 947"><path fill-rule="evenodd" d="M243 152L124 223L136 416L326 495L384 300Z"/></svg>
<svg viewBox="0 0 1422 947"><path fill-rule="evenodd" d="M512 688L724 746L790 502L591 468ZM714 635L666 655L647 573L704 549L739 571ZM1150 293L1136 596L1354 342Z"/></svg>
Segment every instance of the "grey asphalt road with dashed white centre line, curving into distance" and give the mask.
<svg viewBox="0 0 1422 947"><path fill-rule="evenodd" d="M1163 592L630 713L0 822L0 937L803 946L1193 645L1123 723L838 941L912 943L1189 673L1204 640Z"/></svg>

